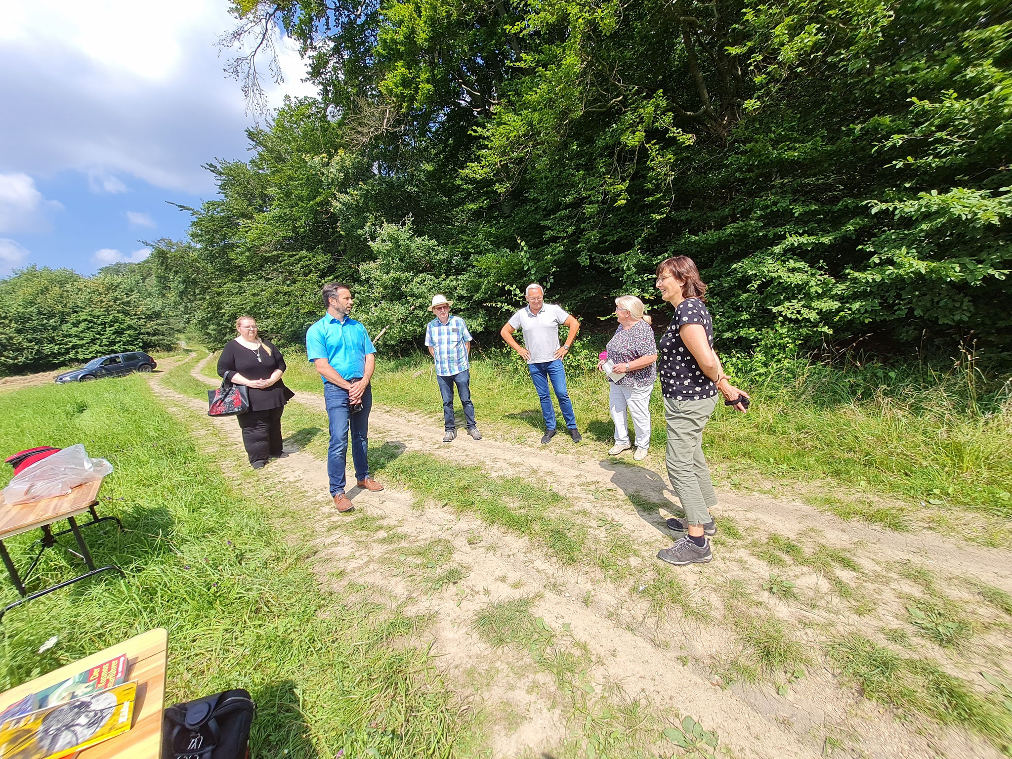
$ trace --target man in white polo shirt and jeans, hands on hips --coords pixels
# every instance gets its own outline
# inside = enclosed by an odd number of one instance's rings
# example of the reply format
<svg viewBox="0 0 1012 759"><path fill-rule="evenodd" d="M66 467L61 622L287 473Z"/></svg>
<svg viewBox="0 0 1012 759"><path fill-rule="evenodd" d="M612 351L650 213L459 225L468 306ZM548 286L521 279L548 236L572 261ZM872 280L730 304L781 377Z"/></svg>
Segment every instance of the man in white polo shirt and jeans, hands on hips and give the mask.
<svg viewBox="0 0 1012 759"><path fill-rule="evenodd" d="M545 431L541 442L546 443L556 436L556 410L552 406L550 382L555 388L570 436L573 442L580 442L583 436L576 428L576 415L573 413L569 393L566 392L566 368L563 366L563 356L569 353L576 340L580 323L561 307L544 303L544 288L536 282L527 285L524 299L527 307L516 312L499 330L499 334L527 362L527 370L541 402L541 416L544 417ZM565 345L559 344L561 325L570 328ZM523 331L523 345L513 337L518 329Z"/></svg>

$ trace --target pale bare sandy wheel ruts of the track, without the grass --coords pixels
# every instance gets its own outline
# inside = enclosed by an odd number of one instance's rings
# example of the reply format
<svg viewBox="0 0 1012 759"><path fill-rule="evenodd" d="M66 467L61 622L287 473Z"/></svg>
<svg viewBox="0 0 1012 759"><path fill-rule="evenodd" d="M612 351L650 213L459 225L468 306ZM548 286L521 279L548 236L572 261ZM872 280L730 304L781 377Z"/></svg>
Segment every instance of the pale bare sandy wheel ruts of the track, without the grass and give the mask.
<svg viewBox="0 0 1012 759"><path fill-rule="evenodd" d="M213 384L200 374L199 368L193 369L193 376ZM162 392L174 405L204 411L199 402L167 389ZM325 411L320 396L300 393L296 400ZM208 419L207 423L241 447L239 429L233 420ZM661 527L663 515L657 509L635 508L621 497L624 494L664 501L671 494L656 471L612 463L602 459L603 451L590 444L580 446L573 455L552 450L551 446L545 450L489 438L474 441L467 436L443 444L438 442L441 437L441 425L433 424L430 417L377 407L372 410L373 444L393 442L407 450L432 453L461 465L481 463L492 475L531 475L549 480L575 504L586 505L620 523L646 557L671 542ZM841 688L832 673L818 664L793 683L786 695L777 695L770 685L722 689L708 674L707 658L733 647L728 630L684 619L647 621L645 603L636 597L635 586L634 590L616 587L585 569L560 567L526 539L490 528L471 515L458 516L430 504L420 508L410 493L391 487L376 494L353 489L348 495L357 511L384 517L381 532L359 535L348 529L353 522L337 515L330 506L322 461L296 451L271 463L262 476L310 496L304 508L313 509L319 520L316 571L321 583L337 587L355 580L408 603L412 611L435 615L434 626L427 635L432 637L432 651L439 656L443 671L459 689L473 688L488 713L512 715L490 721L491 743L497 757L516 756L527 749L551 756L553 749L575 730L573 724L567 725L566 709L558 699L545 696L544 675L532 670L529 657L508 649L494 651L471 628L476 612L489 600L532 593L540 594L534 606L536 614L557 631L568 622L574 641L588 647L592 659L588 673L595 692L603 692L609 684L618 685L623 697L643 699L672 719L692 714L707 729L715 730L722 746L731 748L736 756L822 756L830 746L830 738L847 747L844 755L860 751L874 757L934 756L938 752L950 757L998 756L992 747L961 732L942 730L918 720L896 721L889 709ZM1012 563L1007 553L999 550L957 546L928 532L887 532L845 522L802 504L733 493L721 493L718 513L734 515L747 532L756 535L818 535L825 544L846 547L863 567L913 560L919 565L931 563L933 570L943 574L973 575L1012 589ZM410 573L392 572L401 549L396 542L388 545L382 540L395 530L408 533L411 545L448 540L453 559L465 567L467 577L438 592L419 592ZM483 539L472 544L469 537L476 534ZM686 582L693 594L743 578L755 586L768 574L765 565L737 546L728 547L726 557L726 561L719 561L722 557L718 554L718 560L710 565L686 570ZM636 566L638 561L632 561ZM647 567L644 565L645 570ZM337 568L345 573L340 581L332 579ZM813 592L828 592L818 587L818 578L814 582ZM581 601L587 590L593 593L589 604ZM777 609L777 613L781 612L788 620L809 620L839 630L867 625L842 602L830 600L820 608ZM796 632L815 650L818 637L808 627L798 624ZM972 669L973 663L967 663L966 668ZM484 684L474 685L476 680Z"/></svg>

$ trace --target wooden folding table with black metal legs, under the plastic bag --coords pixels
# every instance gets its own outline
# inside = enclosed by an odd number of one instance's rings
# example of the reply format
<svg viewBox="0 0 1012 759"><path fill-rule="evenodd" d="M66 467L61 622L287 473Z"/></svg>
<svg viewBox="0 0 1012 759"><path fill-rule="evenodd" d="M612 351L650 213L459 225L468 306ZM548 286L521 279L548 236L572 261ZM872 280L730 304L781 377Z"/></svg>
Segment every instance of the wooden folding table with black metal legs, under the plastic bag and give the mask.
<svg viewBox="0 0 1012 759"><path fill-rule="evenodd" d="M93 575L109 571L118 572L120 575L123 574L122 570L113 564L96 568L95 563L91 559L91 554L88 552L88 546L84 542L84 537L81 536L81 527L90 527L93 524L105 521L114 521L117 527L122 528L119 519L116 517L99 517L95 511L95 506L98 504L98 489L101 487L102 481L96 480L91 483L79 485L65 496L44 498L40 501L14 504L11 506L8 506L4 502L3 497L0 496L0 559L3 559L3 563L7 567L7 573L10 575L11 582L14 583L14 588L17 590L18 595L21 596L20 599L7 604L2 610L0 610L0 621L3 620L3 615L15 606L20 606L22 603L27 603L28 601L38 598L39 596L46 595L47 593L52 593L55 590L66 588L68 585L73 585L74 583L88 577L92 577ZM91 520L78 524L77 517L86 512L90 513ZM54 522L60 521L61 519L67 520L68 524L70 524L70 529L54 532L50 528L50 525ZM17 567L14 566L14 562L11 560L10 554L7 553L7 546L4 545L3 541L9 537L13 537L14 535L36 528L43 530L43 536L36 540L36 543L39 545L38 554L35 556L22 578L18 575ZM74 535L80 553L57 540L57 538L61 535L66 535L68 533ZM24 584L28 581L31 573L38 565L38 560L43 558L43 553L47 549L54 545L59 545L83 561L85 566L88 568L88 572L85 572L83 575L78 575L70 580L65 580L62 583L52 585L49 588L28 594L25 590Z"/></svg>

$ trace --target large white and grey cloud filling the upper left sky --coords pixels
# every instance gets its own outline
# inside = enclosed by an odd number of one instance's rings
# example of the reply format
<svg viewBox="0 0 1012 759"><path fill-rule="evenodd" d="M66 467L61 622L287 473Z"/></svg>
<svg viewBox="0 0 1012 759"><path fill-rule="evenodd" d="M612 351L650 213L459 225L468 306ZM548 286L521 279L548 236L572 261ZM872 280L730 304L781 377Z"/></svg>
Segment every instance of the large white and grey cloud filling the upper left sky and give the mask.
<svg viewBox="0 0 1012 759"><path fill-rule="evenodd" d="M246 154L239 84L216 43L236 19L224 0L0 0L0 171L75 170L96 191L136 177L187 192L214 189L201 165ZM290 44L279 46L285 83L314 94ZM264 62L266 64L266 62Z"/></svg>

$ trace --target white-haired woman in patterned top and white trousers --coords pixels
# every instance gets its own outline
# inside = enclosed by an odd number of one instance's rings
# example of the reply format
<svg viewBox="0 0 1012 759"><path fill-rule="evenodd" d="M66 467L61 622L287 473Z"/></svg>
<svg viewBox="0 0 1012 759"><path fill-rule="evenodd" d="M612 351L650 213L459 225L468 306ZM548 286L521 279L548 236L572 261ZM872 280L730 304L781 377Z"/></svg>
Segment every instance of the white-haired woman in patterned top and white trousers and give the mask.
<svg viewBox="0 0 1012 759"><path fill-rule="evenodd" d="M625 418L627 409L636 430L636 453L632 457L638 461L647 457L650 447L650 396L657 378L657 338L650 326L651 318L644 316L643 312L643 301L636 296L615 299L618 329L605 348L607 356L597 364L597 368L603 370L605 361L611 361L612 374L621 375L615 380L608 377L611 386L608 406L611 421L615 423L615 444L608 453L616 456L631 447Z"/></svg>

